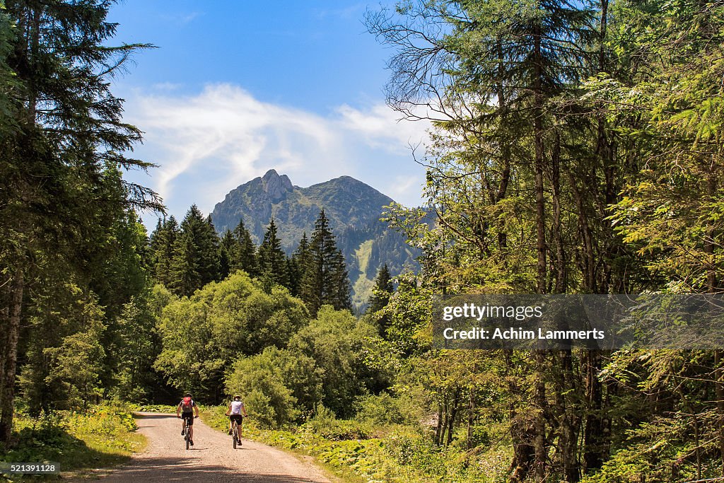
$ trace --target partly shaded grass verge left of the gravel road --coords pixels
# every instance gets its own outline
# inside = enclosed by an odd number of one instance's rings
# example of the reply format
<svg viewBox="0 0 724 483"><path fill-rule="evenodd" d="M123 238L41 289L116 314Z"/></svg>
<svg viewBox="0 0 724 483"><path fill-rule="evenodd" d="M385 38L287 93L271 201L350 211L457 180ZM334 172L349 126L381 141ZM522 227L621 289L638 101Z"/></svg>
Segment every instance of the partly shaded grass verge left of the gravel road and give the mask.
<svg viewBox="0 0 724 483"><path fill-rule="evenodd" d="M10 463L59 463L64 476L83 475L93 469L125 463L132 453L143 450L146 438L135 433L130 412L114 406L93 406L83 413L56 411L33 418L15 416L13 441L0 452L0 461ZM2 475L0 481L49 481L60 475Z"/></svg>

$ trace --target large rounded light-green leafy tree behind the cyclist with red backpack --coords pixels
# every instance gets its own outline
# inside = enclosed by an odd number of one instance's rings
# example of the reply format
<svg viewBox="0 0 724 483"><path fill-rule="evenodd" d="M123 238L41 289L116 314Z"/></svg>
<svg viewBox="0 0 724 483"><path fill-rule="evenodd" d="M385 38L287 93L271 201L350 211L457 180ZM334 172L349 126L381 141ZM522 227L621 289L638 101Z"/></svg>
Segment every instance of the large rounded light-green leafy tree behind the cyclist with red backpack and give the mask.
<svg viewBox="0 0 724 483"><path fill-rule="evenodd" d="M155 366L179 390L218 402L224 371L237 358L271 345L284 347L306 321L303 303L286 290L264 293L237 272L164 308L159 323L163 350Z"/></svg>

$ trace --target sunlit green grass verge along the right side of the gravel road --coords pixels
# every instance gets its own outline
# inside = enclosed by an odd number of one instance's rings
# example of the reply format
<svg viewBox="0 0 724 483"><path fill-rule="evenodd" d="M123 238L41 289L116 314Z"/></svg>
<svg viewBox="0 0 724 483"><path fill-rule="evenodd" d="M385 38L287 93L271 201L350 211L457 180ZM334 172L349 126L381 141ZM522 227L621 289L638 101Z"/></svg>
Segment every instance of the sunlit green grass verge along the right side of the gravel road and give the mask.
<svg viewBox="0 0 724 483"><path fill-rule="evenodd" d="M226 431L225 411L209 407L201 418ZM418 427L354 419L312 419L290 429L261 429L250 418L244 422L244 437L311 456L345 482L497 483L505 481L510 461L509 445L473 451L438 447Z"/></svg>

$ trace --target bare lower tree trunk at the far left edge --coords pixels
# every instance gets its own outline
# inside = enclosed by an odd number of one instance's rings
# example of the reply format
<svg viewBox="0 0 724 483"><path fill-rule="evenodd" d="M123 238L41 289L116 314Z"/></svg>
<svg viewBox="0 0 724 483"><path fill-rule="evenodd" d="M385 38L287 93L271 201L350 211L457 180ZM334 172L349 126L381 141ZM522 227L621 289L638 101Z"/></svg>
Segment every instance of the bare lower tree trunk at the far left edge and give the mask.
<svg viewBox="0 0 724 483"><path fill-rule="evenodd" d="M17 339L20 335L20 314L22 312L22 292L25 288L22 269L15 269L12 276L10 310L5 348L4 379L2 380L2 404L0 408L0 441L6 445L12 434L14 414L15 371L17 366Z"/></svg>

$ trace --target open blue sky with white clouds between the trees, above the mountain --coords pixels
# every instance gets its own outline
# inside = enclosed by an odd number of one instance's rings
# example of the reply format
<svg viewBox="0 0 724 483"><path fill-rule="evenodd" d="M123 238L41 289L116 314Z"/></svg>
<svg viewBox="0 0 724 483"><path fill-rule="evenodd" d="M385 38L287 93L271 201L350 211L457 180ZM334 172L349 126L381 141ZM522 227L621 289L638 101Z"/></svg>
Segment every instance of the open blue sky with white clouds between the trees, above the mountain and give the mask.
<svg viewBox="0 0 724 483"><path fill-rule="evenodd" d="M177 217L191 203L208 213L271 168L299 186L350 175L400 203L420 203L424 169L408 146L428 126L397 122L385 106L392 52L366 33L366 8L179 0L112 7L117 42L158 47L136 54L114 80L125 118L146 133L135 156L160 165L127 177L159 191Z"/></svg>

